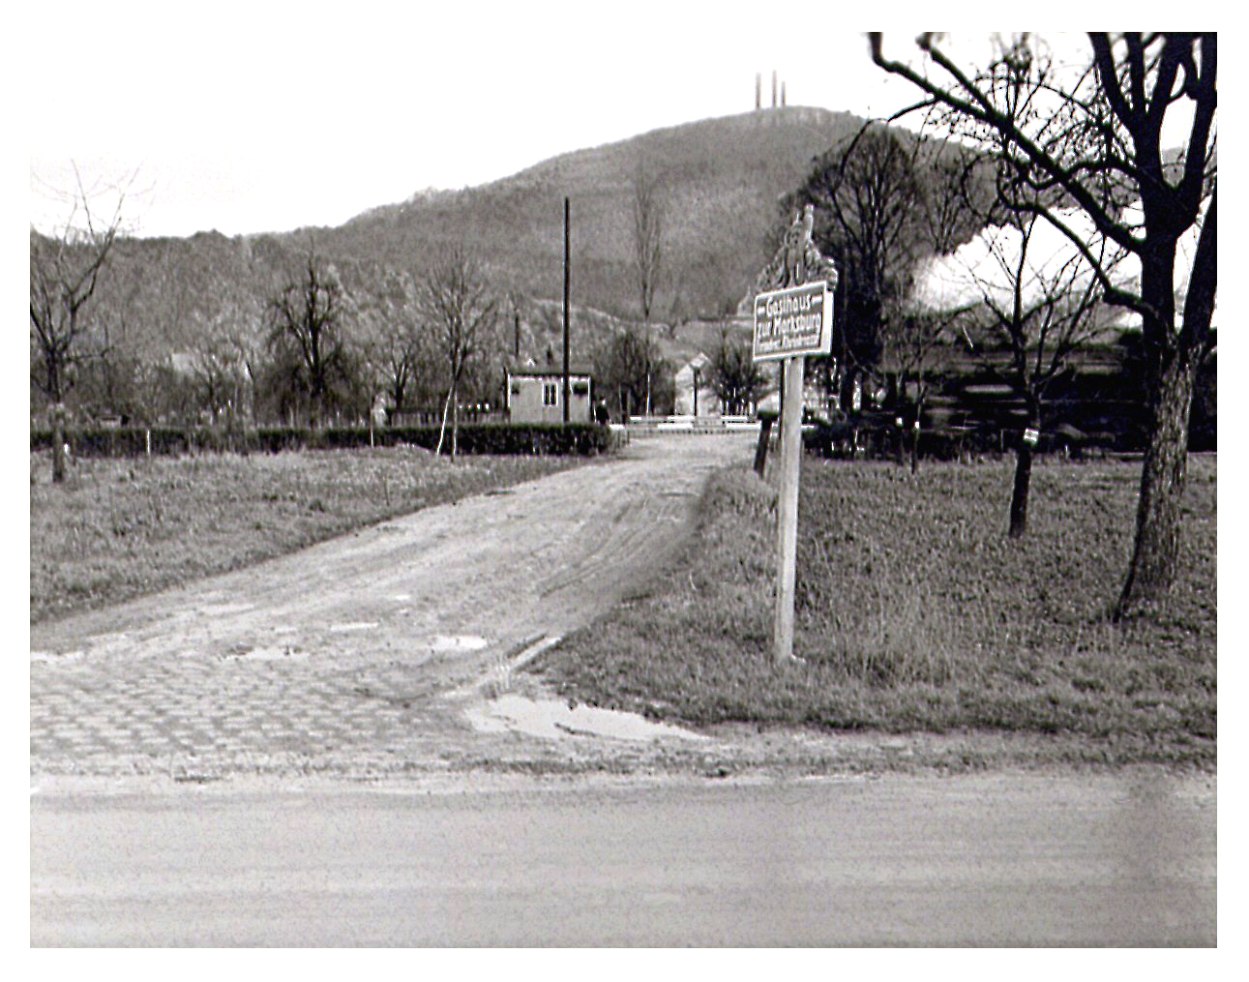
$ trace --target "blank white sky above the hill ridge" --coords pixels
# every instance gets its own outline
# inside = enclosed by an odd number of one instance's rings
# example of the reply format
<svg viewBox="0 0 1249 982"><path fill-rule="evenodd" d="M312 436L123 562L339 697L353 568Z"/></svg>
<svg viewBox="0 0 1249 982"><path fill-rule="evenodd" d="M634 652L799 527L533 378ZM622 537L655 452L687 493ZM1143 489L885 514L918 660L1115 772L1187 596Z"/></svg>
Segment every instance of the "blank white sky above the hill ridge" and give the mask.
<svg viewBox="0 0 1249 982"><path fill-rule="evenodd" d="M127 189L137 235L281 231L749 111L756 72L764 105L773 70L791 106L914 99L814 6L776 30L736 0L407 6L44 0L19 15L31 221L64 220L75 166L89 191Z"/></svg>

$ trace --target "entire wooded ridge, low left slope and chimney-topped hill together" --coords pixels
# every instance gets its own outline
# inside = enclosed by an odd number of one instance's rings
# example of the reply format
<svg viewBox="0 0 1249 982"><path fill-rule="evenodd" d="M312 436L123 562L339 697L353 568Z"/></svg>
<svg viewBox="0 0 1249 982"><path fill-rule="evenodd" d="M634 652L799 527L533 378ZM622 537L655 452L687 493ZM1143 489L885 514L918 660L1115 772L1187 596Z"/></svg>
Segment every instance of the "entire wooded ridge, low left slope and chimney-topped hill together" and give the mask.
<svg viewBox="0 0 1249 982"><path fill-rule="evenodd" d="M652 319L673 325L727 316L771 257L778 199L861 122L811 106L707 117L547 157L476 187L417 191L338 226L119 239L92 316L109 326L111 342L145 359L206 339L257 337L267 297L310 241L361 289L376 279L370 271L421 275L450 246L466 245L510 295L560 297L568 195L575 309L593 311L586 320L596 330L612 319L641 320L631 220L639 162L667 200Z"/></svg>

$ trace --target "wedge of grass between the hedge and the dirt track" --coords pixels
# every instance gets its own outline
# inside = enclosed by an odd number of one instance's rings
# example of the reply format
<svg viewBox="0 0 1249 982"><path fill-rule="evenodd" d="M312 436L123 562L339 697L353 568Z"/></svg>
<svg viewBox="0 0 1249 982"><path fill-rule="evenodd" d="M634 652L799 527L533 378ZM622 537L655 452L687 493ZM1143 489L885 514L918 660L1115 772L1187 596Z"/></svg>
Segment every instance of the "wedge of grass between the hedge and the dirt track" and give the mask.
<svg viewBox="0 0 1249 982"><path fill-rule="evenodd" d="M31 455L30 617L40 621L292 552L582 462L426 451L80 460L60 487Z"/></svg>

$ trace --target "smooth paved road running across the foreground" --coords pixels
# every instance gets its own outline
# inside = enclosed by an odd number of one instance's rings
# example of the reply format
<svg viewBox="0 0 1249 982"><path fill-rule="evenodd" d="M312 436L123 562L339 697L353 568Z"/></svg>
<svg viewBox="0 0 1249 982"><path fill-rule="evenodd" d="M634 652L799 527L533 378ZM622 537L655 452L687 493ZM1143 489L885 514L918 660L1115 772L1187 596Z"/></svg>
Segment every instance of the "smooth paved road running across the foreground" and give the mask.
<svg viewBox="0 0 1249 982"><path fill-rule="evenodd" d="M1213 778L36 793L31 943L1213 945Z"/></svg>

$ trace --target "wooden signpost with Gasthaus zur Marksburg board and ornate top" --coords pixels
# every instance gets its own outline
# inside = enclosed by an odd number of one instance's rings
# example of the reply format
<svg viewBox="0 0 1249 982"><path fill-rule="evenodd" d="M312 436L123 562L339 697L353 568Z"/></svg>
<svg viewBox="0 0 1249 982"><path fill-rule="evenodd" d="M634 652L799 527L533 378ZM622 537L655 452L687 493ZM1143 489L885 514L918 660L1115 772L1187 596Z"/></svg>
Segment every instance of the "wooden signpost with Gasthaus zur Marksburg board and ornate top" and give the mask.
<svg viewBox="0 0 1249 982"><path fill-rule="evenodd" d="M827 355L833 342L832 290L837 269L812 237L807 205L786 232L772 264L759 274L754 296L754 361L781 361L781 489L777 503L777 587L772 656L793 658L793 597L798 553L798 477L802 462L803 375L807 355Z"/></svg>

